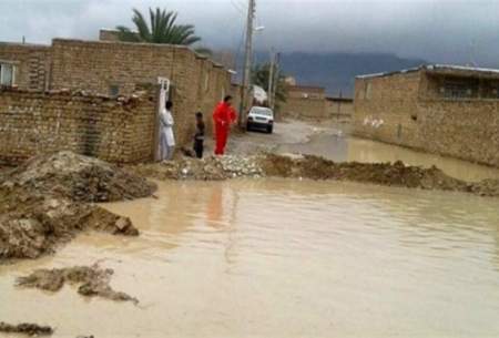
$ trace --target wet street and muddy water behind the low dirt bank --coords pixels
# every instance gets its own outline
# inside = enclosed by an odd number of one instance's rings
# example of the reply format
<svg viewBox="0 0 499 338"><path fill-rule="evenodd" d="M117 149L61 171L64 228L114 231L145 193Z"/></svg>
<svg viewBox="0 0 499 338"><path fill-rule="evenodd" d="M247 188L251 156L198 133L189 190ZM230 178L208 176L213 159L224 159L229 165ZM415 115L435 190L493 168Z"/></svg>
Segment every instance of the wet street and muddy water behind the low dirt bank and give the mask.
<svg viewBox="0 0 499 338"><path fill-rule="evenodd" d="M208 150L211 142L208 142ZM468 181L499 178L499 168L475 164L462 160L418 152L349 135L348 124L308 124L286 121L275 125L273 134L248 132L233 135L228 153L254 153L271 151L281 154L312 154L336 162L357 161L364 163L403 161L409 165L430 167L436 165L446 174Z"/></svg>

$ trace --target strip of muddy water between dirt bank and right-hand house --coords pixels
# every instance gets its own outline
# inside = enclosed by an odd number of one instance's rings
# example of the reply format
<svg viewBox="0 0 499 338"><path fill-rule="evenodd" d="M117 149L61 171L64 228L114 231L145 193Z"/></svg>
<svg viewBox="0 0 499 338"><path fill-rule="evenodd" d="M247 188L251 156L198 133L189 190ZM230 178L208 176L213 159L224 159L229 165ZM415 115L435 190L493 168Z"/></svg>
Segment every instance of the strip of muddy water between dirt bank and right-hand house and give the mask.
<svg viewBox="0 0 499 338"><path fill-rule="evenodd" d="M465 181L499 178L499 170L470 162L417 152L407 147L381 142L322 134L306 144L282 145L281 152L320 155L326 158L345 162L365 163L403 161L410 165L429 167L436 165L450 176Z"/></svg>

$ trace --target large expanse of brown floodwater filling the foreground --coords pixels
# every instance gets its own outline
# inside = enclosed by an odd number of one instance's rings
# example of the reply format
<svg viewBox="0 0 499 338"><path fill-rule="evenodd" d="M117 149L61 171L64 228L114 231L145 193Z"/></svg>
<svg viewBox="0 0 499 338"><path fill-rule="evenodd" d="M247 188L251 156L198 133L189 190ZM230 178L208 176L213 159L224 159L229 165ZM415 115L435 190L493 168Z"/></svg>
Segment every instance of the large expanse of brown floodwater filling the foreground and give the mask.
<svg viewBox="0 0 499 338"><path fill-rule="evenodd" d="M110 204L142 234L85 234L0 267L0 320L53 337L499 337L499 201L336 182L161 183ZM140 299L17 289L101 260ZM1 336L1 335L0 335Z"/></svg>

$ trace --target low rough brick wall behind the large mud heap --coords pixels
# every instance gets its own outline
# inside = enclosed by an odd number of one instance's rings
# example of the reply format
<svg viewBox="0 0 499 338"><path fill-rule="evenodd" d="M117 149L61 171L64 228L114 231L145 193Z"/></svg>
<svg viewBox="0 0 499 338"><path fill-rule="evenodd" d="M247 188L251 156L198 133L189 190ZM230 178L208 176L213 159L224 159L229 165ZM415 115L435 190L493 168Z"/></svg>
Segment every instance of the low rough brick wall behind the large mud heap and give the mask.
<svg viewBox="0 0 499 338"><path fill-rule="evenodd" d="M69 150L105 161L152 158L154 102L0 91L0 162Z"/></svg>

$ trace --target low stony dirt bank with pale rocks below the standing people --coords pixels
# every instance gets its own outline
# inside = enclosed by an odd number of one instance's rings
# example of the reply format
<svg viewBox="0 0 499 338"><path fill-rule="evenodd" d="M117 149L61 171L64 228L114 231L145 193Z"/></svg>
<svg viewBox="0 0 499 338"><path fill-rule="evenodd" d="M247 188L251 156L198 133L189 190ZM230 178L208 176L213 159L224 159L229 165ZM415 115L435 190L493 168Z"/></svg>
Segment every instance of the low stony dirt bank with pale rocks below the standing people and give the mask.
<svg viewBox="0 0 499 338"><path fill-rule="evenodd" d="M241 156L210 156L203 160L185 157L179 161L142 164L130 170L138 175L156 180L221 181L263 175L254 157Z"/></svg>

